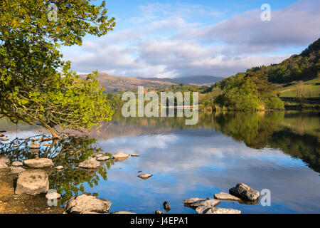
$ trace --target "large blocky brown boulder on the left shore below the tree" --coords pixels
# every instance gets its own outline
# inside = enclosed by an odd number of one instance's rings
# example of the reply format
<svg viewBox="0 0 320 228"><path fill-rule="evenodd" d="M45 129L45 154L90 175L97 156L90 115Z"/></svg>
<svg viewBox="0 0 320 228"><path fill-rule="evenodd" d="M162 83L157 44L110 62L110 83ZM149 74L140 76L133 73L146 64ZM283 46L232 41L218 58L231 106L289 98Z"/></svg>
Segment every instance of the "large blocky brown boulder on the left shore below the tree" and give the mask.
<svg viewBox="0 0 320 228"><path fill-rule="evenodd" d="M43 170L28 170L18 175L16 195L38 195L48 190L48 174Z"/></svg>

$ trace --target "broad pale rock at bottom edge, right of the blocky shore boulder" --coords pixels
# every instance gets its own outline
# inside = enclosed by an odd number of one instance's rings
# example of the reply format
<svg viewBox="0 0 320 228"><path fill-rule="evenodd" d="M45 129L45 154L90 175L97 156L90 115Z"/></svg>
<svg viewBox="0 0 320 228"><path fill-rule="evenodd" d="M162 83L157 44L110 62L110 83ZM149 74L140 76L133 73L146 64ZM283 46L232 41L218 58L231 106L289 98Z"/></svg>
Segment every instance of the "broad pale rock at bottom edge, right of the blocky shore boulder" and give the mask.
<svg viewBox="0 0 320 228"><path fill-rule="evenodd" d="M81 212L109 212L110 206L111 202L109 200L97 199L97 197L86 194L72 197L65 202L65 210L73 214Z"/></svg>

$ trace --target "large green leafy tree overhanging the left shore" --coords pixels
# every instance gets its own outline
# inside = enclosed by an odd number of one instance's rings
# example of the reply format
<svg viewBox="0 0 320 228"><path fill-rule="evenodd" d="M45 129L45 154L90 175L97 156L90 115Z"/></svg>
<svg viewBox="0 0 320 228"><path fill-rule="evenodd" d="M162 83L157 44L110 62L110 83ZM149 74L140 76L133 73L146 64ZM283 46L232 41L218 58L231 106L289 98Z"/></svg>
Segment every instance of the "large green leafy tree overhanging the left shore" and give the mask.
<svg viewBox="0 0 320 228"><path fill-rule="evenodd" d="M50 20L49 3L0 3L0 118L37 125L58 138L65 128L92 128L112 118L97 72L80 79L58 48L81 45L86 34L107 34L115 19L108 19L105 1L60 0L58 17Z"/></svg>

